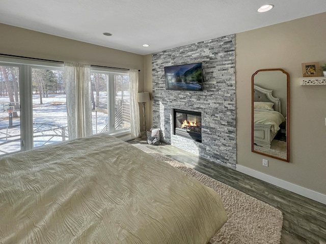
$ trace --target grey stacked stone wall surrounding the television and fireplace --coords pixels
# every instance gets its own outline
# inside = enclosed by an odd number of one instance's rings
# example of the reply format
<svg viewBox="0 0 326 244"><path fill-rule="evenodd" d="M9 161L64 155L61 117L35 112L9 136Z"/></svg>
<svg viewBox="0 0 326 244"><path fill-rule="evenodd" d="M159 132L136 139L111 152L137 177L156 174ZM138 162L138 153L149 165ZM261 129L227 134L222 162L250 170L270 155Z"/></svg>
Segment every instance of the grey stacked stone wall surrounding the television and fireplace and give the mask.
<svg viewBox="0 0 326 244"><path fill-rule="evenodd" d="M236 166L234 35L152 54L153 127L163 140L231 168ZM165 89L164 67L203 63L203 92ZM172 109L202 113L202 143L173 135Z"/></svg>

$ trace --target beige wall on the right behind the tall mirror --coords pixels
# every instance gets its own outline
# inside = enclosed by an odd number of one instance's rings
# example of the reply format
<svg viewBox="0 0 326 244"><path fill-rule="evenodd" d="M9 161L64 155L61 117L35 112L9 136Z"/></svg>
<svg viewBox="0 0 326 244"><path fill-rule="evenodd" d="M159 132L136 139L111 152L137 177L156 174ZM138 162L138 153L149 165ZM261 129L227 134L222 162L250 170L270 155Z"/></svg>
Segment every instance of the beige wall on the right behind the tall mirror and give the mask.
<svg viewBox="0 0 326 244"><path fill-rule="evenodd" d="M302 63L326 63L326 13L236 34L237 164L326 194L326 86L301 86ZM251 152L251 76L290 75L290 163ZM262 166L268 159L269 167Z"/></svg>

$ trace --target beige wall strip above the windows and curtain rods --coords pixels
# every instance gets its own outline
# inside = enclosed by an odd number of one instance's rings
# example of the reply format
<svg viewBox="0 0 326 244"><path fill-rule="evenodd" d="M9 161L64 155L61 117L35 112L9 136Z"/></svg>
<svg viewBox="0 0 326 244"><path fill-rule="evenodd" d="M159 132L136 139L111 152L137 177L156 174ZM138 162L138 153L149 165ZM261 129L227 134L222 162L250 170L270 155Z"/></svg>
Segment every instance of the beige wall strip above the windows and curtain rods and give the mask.
<svg viewBox="0 0 326 244"><path fill-rule="evenodd" d="M52 36L0 23L0 53L79 62L90 65L139 69L144 79L144 56Z"/></svg>

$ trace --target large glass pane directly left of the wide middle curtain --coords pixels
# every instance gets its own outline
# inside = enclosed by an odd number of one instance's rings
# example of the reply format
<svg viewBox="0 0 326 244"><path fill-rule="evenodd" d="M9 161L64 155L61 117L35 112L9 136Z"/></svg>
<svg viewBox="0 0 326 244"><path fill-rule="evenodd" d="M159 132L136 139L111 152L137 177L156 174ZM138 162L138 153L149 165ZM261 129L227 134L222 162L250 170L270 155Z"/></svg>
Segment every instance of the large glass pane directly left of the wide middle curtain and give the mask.
<svg viewBox="0 0 326 244"><path fill-rule="evenodd" d="M34 147L68 140L63 73L63 70L32 69Z"/></svg>

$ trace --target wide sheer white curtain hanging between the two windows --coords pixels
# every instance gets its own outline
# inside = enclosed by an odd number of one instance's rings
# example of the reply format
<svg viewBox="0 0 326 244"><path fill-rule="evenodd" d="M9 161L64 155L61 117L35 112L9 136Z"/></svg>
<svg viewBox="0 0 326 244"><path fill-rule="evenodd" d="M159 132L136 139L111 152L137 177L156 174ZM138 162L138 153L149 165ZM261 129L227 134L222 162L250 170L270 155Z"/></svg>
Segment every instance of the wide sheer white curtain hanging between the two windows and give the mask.
<svg viewBox="0 0 326 244"><path fill-rule="evenodd" d="M90 136L93 134L90 65L65 62L65 79L69 139Z"/></svg>

